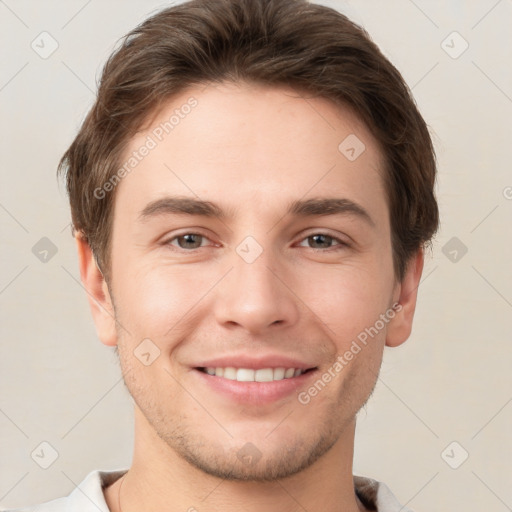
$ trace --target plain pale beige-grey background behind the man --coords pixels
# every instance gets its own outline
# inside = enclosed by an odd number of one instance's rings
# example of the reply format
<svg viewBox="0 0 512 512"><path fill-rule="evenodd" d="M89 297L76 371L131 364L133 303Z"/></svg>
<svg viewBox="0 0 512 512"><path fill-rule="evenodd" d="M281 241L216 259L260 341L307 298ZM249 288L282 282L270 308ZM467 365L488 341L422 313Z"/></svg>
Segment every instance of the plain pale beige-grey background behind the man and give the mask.
<svg viewBox="0 0 512 512"><path fill-rule="evenodd" d="M323 3L362 24L403 73L439 161L442 228L414 331L386 349L354 472L417 512L512 510L512 1ZM89 471L131 461L131 399L96 338L55 170L117 39L165 5L0 0L3 507L66 495ZM42 31L59 45L47 59L31 48ZM469 43L457 58L453 31ZM42 237L58 249L46 263L32 252ZM453 237L458 247L446 246ZM43 441L58 452L48 469L36 463L51 456Z"/></svg>

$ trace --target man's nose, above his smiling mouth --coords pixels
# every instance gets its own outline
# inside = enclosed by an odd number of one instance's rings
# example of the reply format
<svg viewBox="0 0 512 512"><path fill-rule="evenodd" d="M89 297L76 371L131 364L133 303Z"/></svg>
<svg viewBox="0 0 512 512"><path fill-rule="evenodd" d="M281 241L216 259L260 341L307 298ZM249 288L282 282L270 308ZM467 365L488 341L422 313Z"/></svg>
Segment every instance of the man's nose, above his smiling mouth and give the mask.
<svg viewBox="0 0 512 512"><path fill-rule="evenodd" d="M225 327L239 326L251 334L294 325L299 318L293 284L270 250L249 263L237 253L233 269L219 283L215 299L216 320ZM281 268L281 271L279 270Z"/></svg>

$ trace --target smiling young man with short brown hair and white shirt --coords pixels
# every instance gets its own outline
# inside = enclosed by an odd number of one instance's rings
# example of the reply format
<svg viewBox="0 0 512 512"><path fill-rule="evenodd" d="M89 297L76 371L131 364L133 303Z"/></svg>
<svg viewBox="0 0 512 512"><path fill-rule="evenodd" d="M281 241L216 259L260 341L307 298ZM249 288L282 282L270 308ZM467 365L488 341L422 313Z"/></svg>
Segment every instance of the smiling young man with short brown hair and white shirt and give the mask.
<svg viewBox="0 0 512 512"><path fill-rule="evenodd" d="M135 447L24 510L405 510L353 476L354 432L411 332L436 166L360 27L302 0L165 9L107 62L60 169Z"/></svg>

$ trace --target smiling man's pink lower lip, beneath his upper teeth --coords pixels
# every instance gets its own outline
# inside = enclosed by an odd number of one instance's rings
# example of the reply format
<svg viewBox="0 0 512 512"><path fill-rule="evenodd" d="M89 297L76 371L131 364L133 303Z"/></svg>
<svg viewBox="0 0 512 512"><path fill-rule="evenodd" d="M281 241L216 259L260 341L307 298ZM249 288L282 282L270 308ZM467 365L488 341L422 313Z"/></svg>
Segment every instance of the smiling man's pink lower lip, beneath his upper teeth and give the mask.
<svg viewBox="0 0 512 512"><path fill-rule="evenodd" d="M211 389L229 397L230 399L244 404L268 404L288 397L305 387L309 380L314 377L317 370L310 370L298 377L274 380L272 382L240 382L237 380L216 377L194 368L194 374Z"/></svg>

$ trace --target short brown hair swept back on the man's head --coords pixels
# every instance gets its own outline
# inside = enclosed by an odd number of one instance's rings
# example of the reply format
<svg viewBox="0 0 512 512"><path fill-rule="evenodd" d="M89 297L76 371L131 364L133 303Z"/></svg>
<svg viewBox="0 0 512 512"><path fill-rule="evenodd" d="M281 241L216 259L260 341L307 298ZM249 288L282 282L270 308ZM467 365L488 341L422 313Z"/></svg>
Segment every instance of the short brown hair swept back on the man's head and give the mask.
<svg viewBox="0 0 512 512"><path fill-rule="evenodd" d="M223 81L284 85L356 112L384 153L394 271L402 280L439 224L427 125L367 32L306 0L191 0L151 16L122 39L59 163L74 229L89 242L105 278L115 194L98 199L94 191L114 176L148 115L189 86Z"/></svg>

